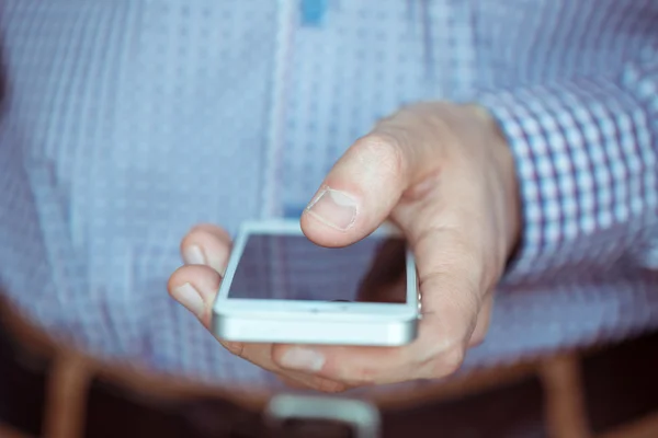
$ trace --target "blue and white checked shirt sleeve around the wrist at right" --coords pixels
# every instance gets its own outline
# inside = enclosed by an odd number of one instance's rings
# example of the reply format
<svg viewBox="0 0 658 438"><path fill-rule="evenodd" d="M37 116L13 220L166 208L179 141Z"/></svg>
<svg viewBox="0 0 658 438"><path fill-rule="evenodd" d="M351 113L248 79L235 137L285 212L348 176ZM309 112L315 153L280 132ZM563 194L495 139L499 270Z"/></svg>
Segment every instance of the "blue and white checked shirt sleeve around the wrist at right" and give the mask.
<svg viewBox="0 0 658 438"><path fill-rule="evenodd" d="M523 206L503 283L620 263L658 267L658 44L615 73L494 93L480 104L507 136Z"/></svg>

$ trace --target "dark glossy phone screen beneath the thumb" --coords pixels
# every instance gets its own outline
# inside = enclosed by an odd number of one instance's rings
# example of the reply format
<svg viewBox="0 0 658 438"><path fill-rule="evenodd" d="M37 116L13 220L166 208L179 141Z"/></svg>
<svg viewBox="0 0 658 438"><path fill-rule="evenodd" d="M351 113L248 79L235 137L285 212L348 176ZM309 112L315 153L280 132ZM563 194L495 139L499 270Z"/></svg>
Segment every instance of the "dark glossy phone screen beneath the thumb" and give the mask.
<svg viewBox="0 0 658 438"><path fill-rule="evenodd" d="M328 249L304 235L249 234L228 298L405 303L406 292L399 237Z"/></svg>

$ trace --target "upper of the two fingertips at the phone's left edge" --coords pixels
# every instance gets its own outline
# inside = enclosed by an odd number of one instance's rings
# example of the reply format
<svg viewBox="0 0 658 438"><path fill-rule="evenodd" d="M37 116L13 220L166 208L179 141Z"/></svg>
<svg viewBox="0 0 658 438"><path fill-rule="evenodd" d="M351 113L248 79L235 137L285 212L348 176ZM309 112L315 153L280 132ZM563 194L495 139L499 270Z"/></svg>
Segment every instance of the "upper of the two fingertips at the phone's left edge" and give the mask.
<svg viewBox="0 0 658 438"><path fill-rule="evenodd" d="M188 265L207 265L224 275L230 254L228 233L213 224L198 224L181 241L181 256Z"/></svg>

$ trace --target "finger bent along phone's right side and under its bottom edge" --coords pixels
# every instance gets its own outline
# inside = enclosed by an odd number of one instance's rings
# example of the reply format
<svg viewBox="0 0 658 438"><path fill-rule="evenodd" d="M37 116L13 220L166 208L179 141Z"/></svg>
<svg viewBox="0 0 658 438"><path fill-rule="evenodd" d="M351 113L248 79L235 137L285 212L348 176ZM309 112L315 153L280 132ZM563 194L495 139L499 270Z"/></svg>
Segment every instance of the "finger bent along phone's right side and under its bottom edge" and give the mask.
<svg viewBox="0 0 658 438"><path fill-rule="evenodd" d="M433 230L412 243L419 265L423 318L419 337L399 348L276 346L283 368L316 372L351 384L441 378L462 364L480 309L473 257L452 232ZM470 269L470 270L469 270Z"/></svg>

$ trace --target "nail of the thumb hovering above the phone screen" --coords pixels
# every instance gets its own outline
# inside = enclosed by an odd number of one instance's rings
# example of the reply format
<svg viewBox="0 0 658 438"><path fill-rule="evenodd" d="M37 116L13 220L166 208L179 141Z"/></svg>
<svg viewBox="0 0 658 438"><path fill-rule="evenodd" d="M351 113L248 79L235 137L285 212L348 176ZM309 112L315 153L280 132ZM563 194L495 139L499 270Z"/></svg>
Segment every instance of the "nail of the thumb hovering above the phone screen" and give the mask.
<svg viewBox="0 0 658 438"><path fill-rule="evenodd" d="M350 195L325 188L306 210L329 227L345 231L356 219L356 201Z"/></svg>

